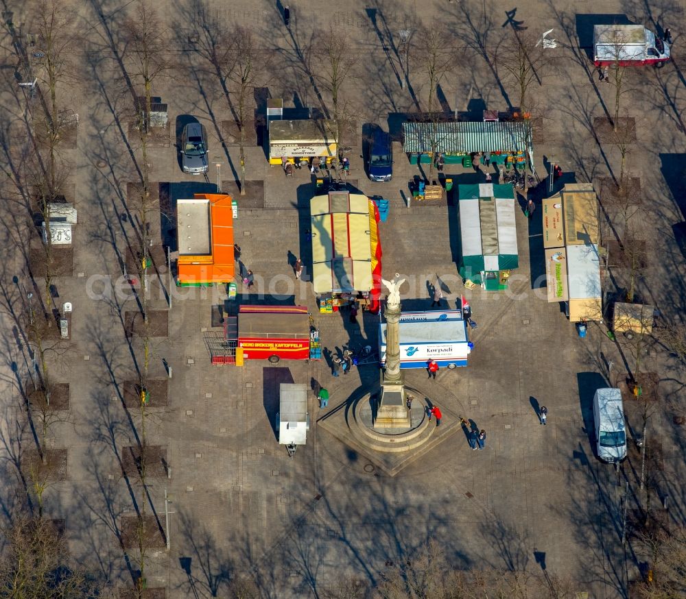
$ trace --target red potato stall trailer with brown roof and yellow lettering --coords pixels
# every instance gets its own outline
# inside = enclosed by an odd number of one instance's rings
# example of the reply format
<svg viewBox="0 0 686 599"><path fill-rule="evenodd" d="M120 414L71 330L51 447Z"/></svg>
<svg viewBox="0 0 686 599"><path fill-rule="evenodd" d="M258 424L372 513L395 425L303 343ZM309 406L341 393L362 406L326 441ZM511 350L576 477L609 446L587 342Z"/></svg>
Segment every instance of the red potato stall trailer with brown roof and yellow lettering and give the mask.
<svg viewBox="0 0 686 599"><path fill-rule="evenodd" d="M311 329L305 306L241 306L236 364L245 360L318 358L319 332Z"/></svg>

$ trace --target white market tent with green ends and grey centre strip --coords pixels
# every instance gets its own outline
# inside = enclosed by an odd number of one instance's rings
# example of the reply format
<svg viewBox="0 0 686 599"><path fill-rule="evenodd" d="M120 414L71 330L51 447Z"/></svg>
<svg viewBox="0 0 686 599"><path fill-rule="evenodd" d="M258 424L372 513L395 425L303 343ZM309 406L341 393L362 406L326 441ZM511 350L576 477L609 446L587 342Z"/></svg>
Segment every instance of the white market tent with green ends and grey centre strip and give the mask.
<svg viewBox="0 0 686 599"><path fill-rule="evenodd" d="M486 273L519 267L512 185L458 186L462 260L460 275L477 284ZM495 276L496 282L499 280ZM490 286L487 286L491 289ZM497 286L493 289L498 289Z"/></svg>

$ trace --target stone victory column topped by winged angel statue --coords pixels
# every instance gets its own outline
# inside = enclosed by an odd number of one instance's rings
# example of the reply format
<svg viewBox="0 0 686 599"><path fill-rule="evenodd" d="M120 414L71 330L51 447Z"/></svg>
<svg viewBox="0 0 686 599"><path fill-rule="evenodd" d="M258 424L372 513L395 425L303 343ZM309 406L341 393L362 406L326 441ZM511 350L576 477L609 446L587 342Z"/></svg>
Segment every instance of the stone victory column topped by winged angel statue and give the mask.
<svg viewBox="0 0 686 599"><path fill-rule="evenodd" d="M375 428L410 428L410 411L405 405L405 385L400 371L400 286L405 282L396 273L392 281L382 279L388 289L383 315L386 317L386 370Z"/></svg>

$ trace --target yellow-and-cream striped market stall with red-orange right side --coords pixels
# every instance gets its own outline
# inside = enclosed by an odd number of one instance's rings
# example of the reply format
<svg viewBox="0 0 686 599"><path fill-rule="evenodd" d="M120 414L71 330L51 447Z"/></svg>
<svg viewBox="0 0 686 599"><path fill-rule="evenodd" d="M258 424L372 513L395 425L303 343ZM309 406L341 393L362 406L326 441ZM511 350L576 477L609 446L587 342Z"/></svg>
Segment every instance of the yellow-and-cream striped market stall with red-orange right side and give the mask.
<svg viewBox="0 0 686 599"><path fill-rule="evenodd" d="M362 193L333 189L311 200L312 280L320 312L357 303L379 310L379 210Z"/></svg>

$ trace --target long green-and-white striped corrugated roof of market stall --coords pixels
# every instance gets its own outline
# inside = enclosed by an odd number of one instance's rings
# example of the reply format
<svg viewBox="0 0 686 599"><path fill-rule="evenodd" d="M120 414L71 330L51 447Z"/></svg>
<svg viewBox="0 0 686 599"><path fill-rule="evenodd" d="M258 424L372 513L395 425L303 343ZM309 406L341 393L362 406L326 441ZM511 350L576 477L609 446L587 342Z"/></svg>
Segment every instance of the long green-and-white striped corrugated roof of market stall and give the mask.
<svg viewBox="0 0 686 599"><path fill-rule="evenodd" d="M408 154L533 151L528 121L403 123L403 138Z"/></svg>

